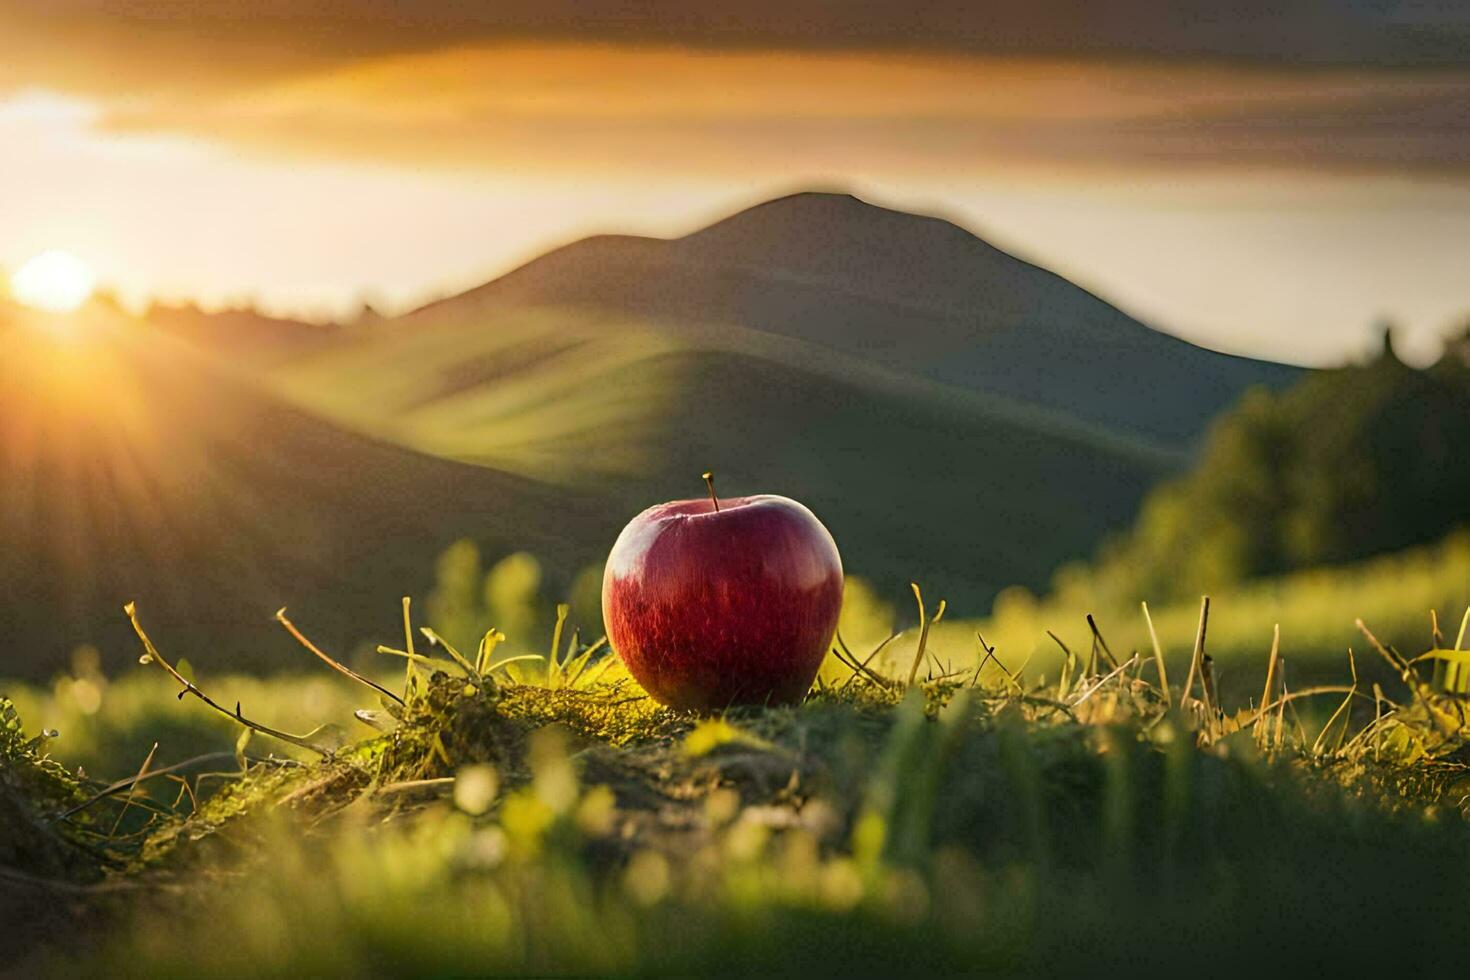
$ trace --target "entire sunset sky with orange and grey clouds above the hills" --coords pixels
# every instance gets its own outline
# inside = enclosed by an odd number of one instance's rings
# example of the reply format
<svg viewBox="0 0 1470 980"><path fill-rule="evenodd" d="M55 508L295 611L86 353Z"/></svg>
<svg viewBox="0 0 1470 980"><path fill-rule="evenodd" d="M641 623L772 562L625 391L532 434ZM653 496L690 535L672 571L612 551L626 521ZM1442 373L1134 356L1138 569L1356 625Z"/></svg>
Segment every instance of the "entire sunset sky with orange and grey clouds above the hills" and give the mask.
<svg viewBox="0 0 1470 980"><path fill-rule="evenodd" d="M0 266L323 317L841 188L1214 348L1427 359L1470 317L1463 7L0 0Z"/></svg>

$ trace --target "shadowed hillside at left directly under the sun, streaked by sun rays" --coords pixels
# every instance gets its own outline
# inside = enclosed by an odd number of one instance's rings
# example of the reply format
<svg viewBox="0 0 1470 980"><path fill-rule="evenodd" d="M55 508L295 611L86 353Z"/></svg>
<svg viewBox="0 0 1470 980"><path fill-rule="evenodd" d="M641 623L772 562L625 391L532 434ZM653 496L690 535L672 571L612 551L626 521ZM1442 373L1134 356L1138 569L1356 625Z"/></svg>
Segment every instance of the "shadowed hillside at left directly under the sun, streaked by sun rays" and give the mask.
<svg viewBox="0 0 1470 980"><path fill-rule="evenodd" d="M0 309L4 674L81 642L134 655L128 599L196 661L295 663L282 605L341 651L391 635L457 536L567 569L614 530L587 498L350 433L104 307L54 329Z"/></svg>

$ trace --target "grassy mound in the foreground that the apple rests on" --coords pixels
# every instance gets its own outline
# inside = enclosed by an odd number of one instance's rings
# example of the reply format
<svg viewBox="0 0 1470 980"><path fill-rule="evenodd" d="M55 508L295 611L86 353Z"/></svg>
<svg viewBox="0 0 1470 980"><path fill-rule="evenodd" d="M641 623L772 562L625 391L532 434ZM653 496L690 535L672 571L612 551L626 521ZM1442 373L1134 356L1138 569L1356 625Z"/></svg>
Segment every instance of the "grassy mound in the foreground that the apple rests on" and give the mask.
<svg viewBox="0 0 1470 980"><path fill-rule="evenodd" d="M1227 711L1202 658L1170 670L1164 696L1152 655L1078 657L1042 686L994 661L950 676L911 639L892 644L925 664L911 685L833 663L800 707L710 718L654 705L612 666L588 674L601 649L581 667L522 661L532 673L516 679L490 669L494 652L420 642L392 698L323 671L341 698L316 720L370 705L379 730L322 752L254 733L216 764L215 792L185 768L101 795L7 714L0 802L26 818L0 824L0 854L32 855L0 877L29 909L15 962L147 976L1460 962L1470 727L1427 671L1320 695L1342 707L1314 724L1274 671L1264 711ZM265 710L288 682L232 708L235 682L179 680L151 657L113 683L147 677L147 698L231 736L225 716L241 710L284 724ZM1260 685L1266 658L1255 667ZM171 696L191 688L223 710ZM18 827L35 835L24 849Z"/></svg>

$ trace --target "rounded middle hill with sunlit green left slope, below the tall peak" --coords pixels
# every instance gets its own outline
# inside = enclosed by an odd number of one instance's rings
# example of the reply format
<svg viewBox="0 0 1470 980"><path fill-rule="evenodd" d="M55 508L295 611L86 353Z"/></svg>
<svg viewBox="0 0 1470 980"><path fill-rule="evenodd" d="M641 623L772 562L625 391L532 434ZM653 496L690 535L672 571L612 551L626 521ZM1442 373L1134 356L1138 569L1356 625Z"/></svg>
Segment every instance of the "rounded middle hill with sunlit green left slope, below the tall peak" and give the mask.
<svg viewBox="0 0 1470 980"><path fill-rule="evenodd" d="M808 504L850 570L980 607L1123 526L1180 460L1011 401L739 328L579 310L390 322L293 361L293 400L425 451L595 492ZM606 547L606 542L601 542ZM600 555L594 555L600 557Z"/></svg>

